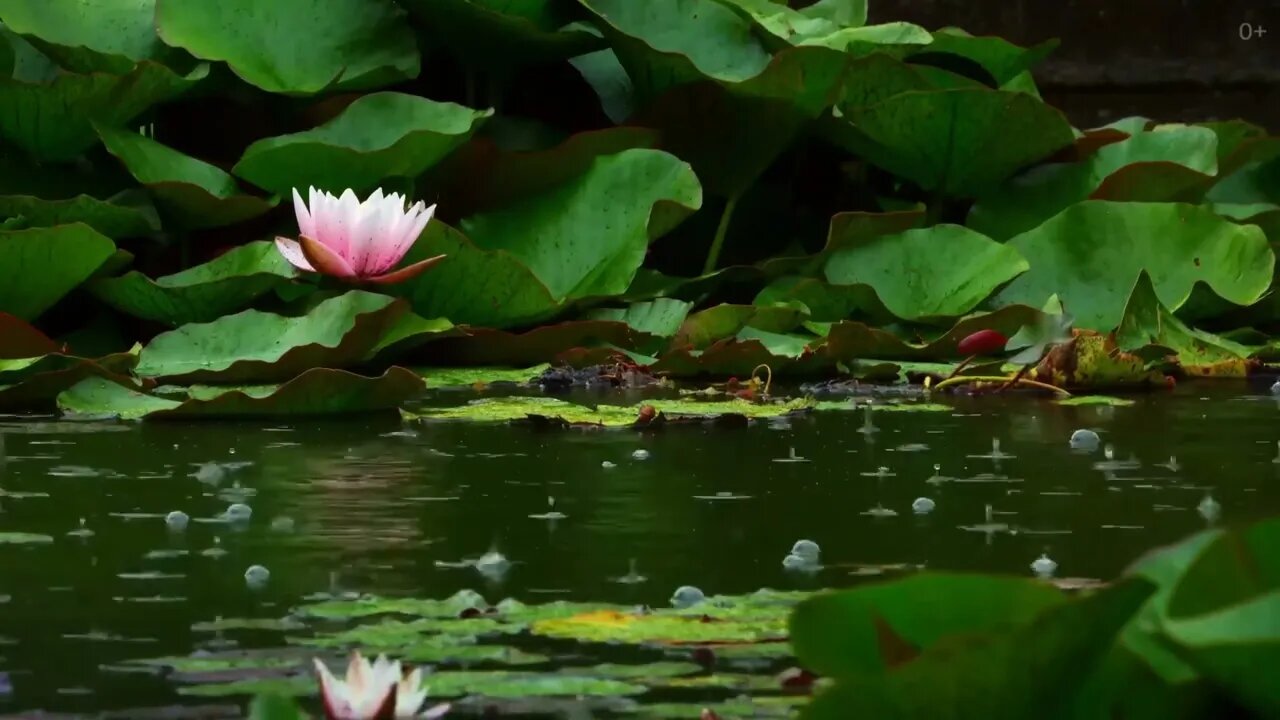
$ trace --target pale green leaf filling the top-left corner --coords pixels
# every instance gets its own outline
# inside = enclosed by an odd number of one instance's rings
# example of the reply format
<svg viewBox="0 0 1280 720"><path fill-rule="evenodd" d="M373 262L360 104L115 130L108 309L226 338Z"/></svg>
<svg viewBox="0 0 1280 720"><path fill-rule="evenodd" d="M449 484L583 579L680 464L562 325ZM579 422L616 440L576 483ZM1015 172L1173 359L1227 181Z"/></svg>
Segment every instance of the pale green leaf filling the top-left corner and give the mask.
<svg viewBox="0 0 1280 720"><path fill-rule="evenodd" d="M156 37L156 0L0 0L0 22L64 68L127 73L174 55Z"/></svg>

